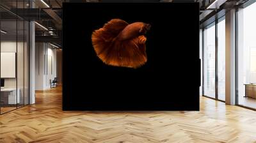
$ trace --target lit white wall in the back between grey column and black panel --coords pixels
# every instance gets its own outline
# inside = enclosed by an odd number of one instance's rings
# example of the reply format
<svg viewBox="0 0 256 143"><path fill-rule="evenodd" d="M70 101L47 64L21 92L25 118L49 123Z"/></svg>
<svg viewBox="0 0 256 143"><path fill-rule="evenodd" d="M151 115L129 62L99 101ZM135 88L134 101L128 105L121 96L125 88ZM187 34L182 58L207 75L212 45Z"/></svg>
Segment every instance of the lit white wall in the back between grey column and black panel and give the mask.
<svg viewBox="0 0 256 143"><path fill-rule="evenodd" d="M49 89L51 88L50 80L57 75L56 49L49 43L36 43L35 57L35 89Z"/></svg>

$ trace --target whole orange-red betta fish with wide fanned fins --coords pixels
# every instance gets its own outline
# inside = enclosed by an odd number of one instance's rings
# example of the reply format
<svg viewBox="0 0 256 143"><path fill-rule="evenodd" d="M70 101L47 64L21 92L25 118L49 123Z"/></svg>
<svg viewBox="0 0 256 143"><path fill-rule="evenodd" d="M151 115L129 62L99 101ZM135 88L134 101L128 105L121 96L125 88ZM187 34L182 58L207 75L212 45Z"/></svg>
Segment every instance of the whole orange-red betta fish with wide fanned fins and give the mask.
<svg viewBox="0 0 256 143"><path fill-rule="evenodd" d="M147 62L145 34L150 24L128 24L112 19L92 33L92 45L101 61L111 66L138 68Z"/></svg>

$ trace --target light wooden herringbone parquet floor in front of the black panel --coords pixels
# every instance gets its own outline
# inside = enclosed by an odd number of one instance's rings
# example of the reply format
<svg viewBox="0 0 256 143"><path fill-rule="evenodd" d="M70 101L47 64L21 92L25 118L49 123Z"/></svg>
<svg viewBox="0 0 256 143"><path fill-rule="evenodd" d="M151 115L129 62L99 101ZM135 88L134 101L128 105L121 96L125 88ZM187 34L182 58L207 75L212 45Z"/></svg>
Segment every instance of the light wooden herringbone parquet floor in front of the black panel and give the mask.
<svg viewBox="0 0 256 143"><path fill-rule="evenodd" d="M61 110L61 88L0 116L0 142L256 142L256 112L200 98L200 112Z"/></svg>

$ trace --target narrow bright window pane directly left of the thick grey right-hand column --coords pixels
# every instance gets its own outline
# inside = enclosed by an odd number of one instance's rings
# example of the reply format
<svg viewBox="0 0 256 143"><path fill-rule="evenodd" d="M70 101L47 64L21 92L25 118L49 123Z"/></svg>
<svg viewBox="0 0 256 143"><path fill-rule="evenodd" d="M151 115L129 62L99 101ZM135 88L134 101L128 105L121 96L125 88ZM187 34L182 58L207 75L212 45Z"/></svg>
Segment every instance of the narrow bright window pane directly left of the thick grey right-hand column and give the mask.
<svg viewBox="0 0 256 143"><path fill-rule="evenodd" d="M218 23L218 99L225 101L225 19Z"/></svg>

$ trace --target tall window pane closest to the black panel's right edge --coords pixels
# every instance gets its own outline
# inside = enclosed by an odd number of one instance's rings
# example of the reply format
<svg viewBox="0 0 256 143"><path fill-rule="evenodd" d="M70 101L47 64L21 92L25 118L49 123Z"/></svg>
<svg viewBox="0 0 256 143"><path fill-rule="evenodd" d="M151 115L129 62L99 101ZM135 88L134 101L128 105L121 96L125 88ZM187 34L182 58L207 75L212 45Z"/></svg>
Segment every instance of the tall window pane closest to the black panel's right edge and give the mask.
<svg viewBox="0 0 256 143"><path fill-rule="evenodd" d="M204 95L215 98L215 25L204 29Z"/></svg>

